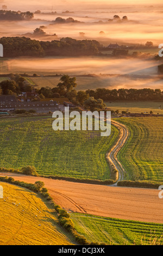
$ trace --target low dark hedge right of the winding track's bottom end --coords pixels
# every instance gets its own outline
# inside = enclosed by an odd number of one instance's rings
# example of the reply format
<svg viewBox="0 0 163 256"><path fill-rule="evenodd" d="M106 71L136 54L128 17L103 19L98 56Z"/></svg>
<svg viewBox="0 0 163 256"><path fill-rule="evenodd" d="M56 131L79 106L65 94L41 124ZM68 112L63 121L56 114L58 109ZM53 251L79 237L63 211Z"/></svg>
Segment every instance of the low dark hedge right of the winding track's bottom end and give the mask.
<svg viewBox="0 0 163 256"><path fill-rule="evenodd" d="M140 187L140 188L155 188L158 189L159 186L163 183L155 181L131 181L131 180L122 180L117 182L117 186L120 187Z"/></svg>

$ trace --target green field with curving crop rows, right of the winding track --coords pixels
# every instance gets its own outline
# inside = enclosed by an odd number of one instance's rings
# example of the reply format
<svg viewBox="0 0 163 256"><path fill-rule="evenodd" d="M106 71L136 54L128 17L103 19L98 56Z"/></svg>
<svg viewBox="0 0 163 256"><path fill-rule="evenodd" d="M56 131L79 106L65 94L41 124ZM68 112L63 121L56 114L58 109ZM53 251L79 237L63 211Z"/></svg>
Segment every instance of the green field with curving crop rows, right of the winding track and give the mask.
<svg viewBox="0 0 163 256"><path fill-rule="evenodd" d="M125 179L162 181L163 118L118 118L117 121L126 125L130 132L117 155L126 170Z"/></svg>

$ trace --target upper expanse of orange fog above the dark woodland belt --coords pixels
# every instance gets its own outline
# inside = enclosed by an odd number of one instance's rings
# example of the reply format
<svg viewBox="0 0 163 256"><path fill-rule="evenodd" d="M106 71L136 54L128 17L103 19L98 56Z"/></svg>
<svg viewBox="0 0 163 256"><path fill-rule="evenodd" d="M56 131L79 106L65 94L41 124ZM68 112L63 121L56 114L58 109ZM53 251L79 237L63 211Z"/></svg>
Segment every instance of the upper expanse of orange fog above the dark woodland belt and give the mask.
<svg viewBox="0 0 163 256"><path fill-rule="evenodd" d="M97 39L104 45L111 42L142 43L153 41L155 45L161 44L163 5L161 1L143 1L143 4L131 5L130 1L28 1L20 4L19 1L1 1L6 4L8 10L33 11L41 10L41 14L35 14L31 21L3 22L1 21L1 36L23 35L33 33L34 29L45 26L43 30L51 35L58 35L58 39L70 36L72 38ZM142 3L137 1L137 3ZM153 4L153 5L151 5ZM70 13L65 13L68 10ZM53 14L49 14L54 12ZM57 13L55 13L55 11ZM128 17L126 22L108 22L114 15ZM72 17L79 22L54 23L57 17L67 19ZM103 31L103 34L99 32ZM79 33L83 32L84 36ZM47 40L44 38L41 40Z"/></svg>

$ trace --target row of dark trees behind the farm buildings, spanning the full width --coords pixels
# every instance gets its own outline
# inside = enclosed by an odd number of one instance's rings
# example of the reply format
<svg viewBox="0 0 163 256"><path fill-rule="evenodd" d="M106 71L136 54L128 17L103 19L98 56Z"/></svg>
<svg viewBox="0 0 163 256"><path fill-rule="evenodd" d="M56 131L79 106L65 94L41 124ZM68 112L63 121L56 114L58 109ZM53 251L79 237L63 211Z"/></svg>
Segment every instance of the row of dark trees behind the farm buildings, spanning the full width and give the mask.
<svg viewBox="0 0 163 256"><path fill-rule="evenodd" d="M18 95L21 92L32 92L34 89L26 78L18 74L9 74L10 80L4 80L0 83L0 95ZM163 91L160 89L106 89L97 88L96 90L76 90L76 77L64 75L60 78L57 87L41 87L34 89L37 93L38 101L43 98L60 98L67 97L68 100L76 105L90 108L102 109L106 101L162 101Z"/></svg>

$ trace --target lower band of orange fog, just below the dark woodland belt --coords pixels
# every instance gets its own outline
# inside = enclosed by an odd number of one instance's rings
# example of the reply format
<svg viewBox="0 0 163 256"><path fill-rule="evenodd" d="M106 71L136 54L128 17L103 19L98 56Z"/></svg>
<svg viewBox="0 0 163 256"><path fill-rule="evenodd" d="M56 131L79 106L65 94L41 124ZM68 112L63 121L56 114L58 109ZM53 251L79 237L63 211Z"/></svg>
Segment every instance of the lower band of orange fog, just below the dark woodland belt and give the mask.
<svg viewBox="0 0 163 256"><path fill-rule="evenodd" d="M96 88L160 88L163 90L162 76L158 76L158 62L148 59L114 59L106 57L51 57L16 58L4 60L0 66L2 73L23 73L29 75L68 74L77 77L77 90ZM92 76L86 76L92 74ZM83 76L84 75L84 76ZM57 86L60 77L44 80L41 87ZM39 81L41 78L39 78ZM36 83L37 84L37 83ZM39 84L39 83L38 83Z"/></svg>

